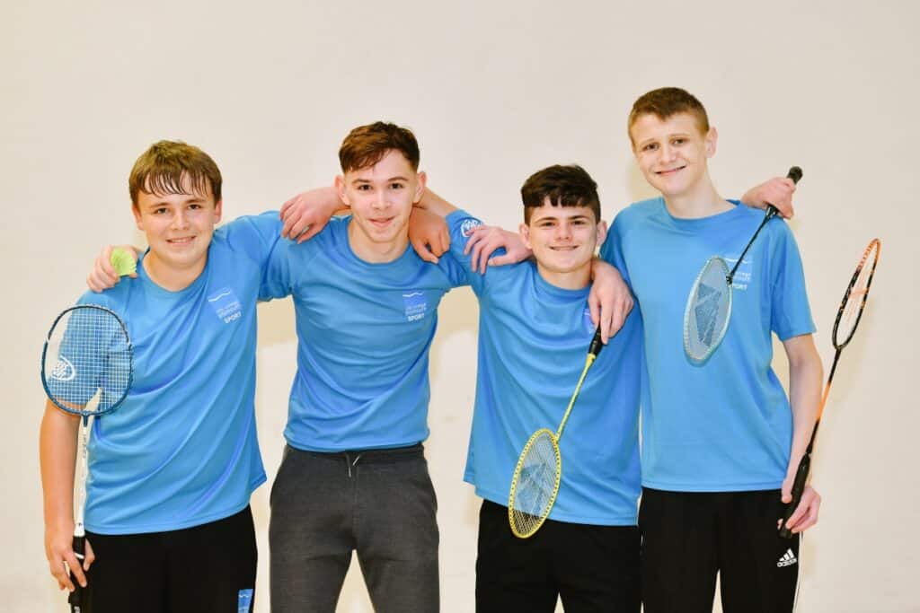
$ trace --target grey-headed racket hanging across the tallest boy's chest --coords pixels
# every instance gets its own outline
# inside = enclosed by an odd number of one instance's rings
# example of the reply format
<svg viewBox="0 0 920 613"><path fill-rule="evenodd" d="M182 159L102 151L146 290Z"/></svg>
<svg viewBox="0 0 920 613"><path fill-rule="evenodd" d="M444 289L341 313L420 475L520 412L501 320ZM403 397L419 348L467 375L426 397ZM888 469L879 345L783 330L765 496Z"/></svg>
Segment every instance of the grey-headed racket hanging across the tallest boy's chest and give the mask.
<svg viewBox="0 0 920 613"><path fill-rule="evenodd" d="M799 183L801 177L802 169L799 166L789 168L787 178ZM725 338L731 319L731 283L734 281L735 272L741 266L744 255L747 255L757 234L763 230L767 221L773 219L776 212L776 207L772 204L767 205L764 221L757 226L757 231L753 233L731 270L725 258L713 255L696 275L684 309L684 352L695 364L705 362Z"/></svg>

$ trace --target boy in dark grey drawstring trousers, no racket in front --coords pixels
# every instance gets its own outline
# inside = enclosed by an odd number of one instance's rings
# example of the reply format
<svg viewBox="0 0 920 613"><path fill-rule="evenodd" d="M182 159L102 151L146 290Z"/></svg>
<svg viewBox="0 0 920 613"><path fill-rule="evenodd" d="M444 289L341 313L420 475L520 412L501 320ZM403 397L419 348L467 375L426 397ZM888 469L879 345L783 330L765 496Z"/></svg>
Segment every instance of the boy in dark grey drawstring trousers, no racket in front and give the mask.
<svg viewBox="0 0 920 613"><path fill-rule="evenodd" d="M352 552L376 610L440 606L428 357L438 305L466 278L409 245L419 159L405 128L351 131L334 195L351 216L279 244L266 268L262 295L293 296L299 340L270 499L275 611L334 611Z"/></svg>

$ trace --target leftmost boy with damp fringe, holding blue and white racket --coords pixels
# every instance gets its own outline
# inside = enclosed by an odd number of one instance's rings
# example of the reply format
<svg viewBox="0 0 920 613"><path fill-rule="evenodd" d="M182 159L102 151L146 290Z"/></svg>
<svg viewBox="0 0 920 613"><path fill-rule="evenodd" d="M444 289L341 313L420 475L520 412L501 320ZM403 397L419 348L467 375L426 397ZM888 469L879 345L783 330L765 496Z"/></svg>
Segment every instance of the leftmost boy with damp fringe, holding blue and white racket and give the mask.
<svg viewBox="0 0 920 613"><path fill-rule="evenodd" d="M135 278L81 303L121 315L132 389L93 423L86 560L72 550L79 418L48 403L40 460L45 550L85 610L251 610L256 537L249 495L265 481L255 429L256 302L278 241L274 216L217 230L221 174L182 142L157 142L129 187L147 237ZM143 595L143 596L139 596Z"/></svg>

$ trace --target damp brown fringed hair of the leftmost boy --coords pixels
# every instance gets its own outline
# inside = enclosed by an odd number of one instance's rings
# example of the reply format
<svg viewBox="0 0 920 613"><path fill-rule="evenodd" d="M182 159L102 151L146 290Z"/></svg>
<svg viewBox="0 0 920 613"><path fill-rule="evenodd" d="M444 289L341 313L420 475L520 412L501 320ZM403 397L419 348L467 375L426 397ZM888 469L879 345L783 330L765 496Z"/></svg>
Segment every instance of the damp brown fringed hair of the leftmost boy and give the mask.
<svg viewBox="0 0 920 613"><path fill-rule="evenodd" d="M221 171L213 159L198 147L181 141L160 141L137 158L128 178L131 202L137 206L140 192L162 196L185 194L183 178L188 177L192 189L204 194L211 185L214 201L221 199Z"/></svg>

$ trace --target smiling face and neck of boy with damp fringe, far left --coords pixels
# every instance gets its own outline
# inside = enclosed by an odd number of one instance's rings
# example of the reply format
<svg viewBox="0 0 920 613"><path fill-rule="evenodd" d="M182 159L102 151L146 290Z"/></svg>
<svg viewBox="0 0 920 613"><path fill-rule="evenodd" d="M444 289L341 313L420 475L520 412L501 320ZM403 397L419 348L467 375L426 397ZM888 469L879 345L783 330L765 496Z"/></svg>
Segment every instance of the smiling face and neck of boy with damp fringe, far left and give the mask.
<svg viewBox="0 0 920 613"><path fill-rule="evenodd" d="M167 289L181 289L198 278L208 260L214 225L221 219L221 201L214 201L208 182L199 187L182 176L181 187L185 193L140 190L133 207L137 228L150 245L144 268Z"/></svg>

